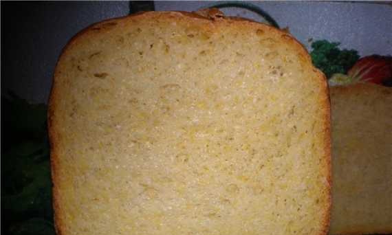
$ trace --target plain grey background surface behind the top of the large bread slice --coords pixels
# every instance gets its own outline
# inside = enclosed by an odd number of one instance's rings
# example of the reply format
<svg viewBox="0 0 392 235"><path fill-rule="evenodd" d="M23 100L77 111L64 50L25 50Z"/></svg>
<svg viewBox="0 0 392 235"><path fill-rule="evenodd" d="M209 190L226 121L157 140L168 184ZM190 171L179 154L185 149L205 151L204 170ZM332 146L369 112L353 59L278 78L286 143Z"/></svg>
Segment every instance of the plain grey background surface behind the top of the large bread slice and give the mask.
<svg viewBox="0 0 392 235"><path fill-rule="evenodd" d="M211 1L156 1L155 10L193 11ZM309 38L338 41L362 56L392 54L391 2L252 2L305 46ZM262 21L239 8L228 15ZM47 102L52 74L61 49L74 34L104 19L129 14L128 1L4 2L1 1L1 93L8 90L30 102Z"/></svg>

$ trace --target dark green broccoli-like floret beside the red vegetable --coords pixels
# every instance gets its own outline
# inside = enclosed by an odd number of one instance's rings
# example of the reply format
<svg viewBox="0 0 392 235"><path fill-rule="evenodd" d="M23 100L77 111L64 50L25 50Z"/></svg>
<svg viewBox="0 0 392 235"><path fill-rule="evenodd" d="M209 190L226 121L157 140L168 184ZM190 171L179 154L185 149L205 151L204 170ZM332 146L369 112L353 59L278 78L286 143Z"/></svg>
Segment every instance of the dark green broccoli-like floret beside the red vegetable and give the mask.
<svg viewBox="0 0 392 235"><path fill-rule="evenodd" d="M314 66L323 71L327 78L333 74L346 74L360 58L354 49L339 49L340 43L330 43L327 40L312 43L312 61Z"/></svg>

